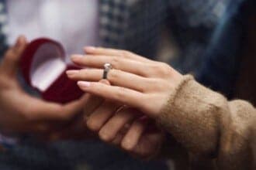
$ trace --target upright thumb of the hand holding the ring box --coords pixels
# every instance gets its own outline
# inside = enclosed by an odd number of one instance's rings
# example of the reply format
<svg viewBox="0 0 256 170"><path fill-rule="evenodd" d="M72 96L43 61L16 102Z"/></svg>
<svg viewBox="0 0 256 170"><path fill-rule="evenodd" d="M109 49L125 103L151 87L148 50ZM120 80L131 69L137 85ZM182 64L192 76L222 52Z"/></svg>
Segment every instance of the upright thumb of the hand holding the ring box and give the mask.
<svg viewBox="0 0 256 170"><path fill-rule="evenodd" d="M10 47L2 60L1 70L8 76L14 76L19 67L19 60L23 50L26 48L27 41L25 36L19 36L16 44Z"/></svg>

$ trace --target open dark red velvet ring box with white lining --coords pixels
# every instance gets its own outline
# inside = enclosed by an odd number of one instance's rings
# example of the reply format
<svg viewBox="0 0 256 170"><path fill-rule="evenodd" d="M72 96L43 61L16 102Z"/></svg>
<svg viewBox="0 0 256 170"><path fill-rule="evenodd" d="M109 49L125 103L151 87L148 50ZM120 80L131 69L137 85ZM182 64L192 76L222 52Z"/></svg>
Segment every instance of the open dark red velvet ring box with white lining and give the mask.
<svg viewBox="0 0 256 170"><path fill-rule="evenodd" d="M52 39L35 39L22 53L20 69L26 83L44 100L65 104L80 98L83 92L67 78L66 70L80 67L66 63L64 47Z"/></svg>

